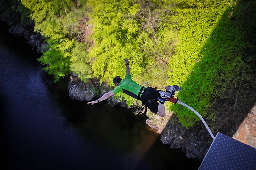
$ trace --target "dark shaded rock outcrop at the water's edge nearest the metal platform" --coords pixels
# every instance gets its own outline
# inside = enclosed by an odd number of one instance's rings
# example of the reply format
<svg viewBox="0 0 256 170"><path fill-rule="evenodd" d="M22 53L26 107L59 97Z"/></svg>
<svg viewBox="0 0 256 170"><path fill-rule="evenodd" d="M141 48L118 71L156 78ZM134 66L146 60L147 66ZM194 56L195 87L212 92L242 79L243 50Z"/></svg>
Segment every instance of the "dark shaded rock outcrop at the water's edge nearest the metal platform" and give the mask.
<svg viewBox="0 0 256 170"><path fill-rule="evenodd" d="M203 159L213 141L202 122L191 128L182 127L173 114L161 133L160 140L170 148L181 148L188 158Z"/></svg>

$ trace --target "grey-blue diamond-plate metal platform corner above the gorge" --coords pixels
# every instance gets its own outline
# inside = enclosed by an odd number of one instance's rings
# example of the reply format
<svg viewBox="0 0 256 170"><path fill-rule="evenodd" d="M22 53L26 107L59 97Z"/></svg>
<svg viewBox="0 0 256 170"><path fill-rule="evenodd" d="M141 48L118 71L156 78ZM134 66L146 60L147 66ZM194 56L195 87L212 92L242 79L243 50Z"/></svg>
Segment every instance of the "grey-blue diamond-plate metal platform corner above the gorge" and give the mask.
<svg viewBox="0 0 256 170"><path fill-rule="evenodd" d="M256 170L256 149L218 132L199 167L203 169Z"/></svg>

